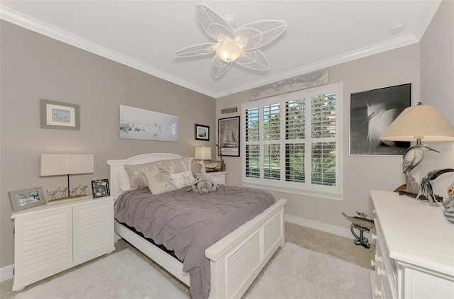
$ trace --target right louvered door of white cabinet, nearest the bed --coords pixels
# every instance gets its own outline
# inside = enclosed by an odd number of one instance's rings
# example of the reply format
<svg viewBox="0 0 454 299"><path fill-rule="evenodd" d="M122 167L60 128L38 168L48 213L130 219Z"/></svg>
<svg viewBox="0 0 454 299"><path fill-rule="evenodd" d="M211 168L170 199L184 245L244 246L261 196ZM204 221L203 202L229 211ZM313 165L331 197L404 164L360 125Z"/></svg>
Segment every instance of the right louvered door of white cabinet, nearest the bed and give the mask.
<svg viewBox="0 0 454 299"><path fill-rule="evenodd" d="M74 206L74 263L114 250L114 201Z"/></svg>

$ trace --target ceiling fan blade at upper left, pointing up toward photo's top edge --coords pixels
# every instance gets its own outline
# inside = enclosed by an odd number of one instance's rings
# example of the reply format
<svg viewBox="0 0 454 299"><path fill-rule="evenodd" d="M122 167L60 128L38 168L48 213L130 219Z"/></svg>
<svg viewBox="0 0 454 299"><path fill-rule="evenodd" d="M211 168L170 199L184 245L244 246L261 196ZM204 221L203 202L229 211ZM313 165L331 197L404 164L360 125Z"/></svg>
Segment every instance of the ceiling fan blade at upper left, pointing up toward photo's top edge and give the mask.
<svg viewBox="0 0 454 299"><path fill-rule="evenodd" d="M231 41L235 40L235 30L216 11L200 3L196 5L196 11L201 27L211 38L220 41L219 35L225 35Z"/></svg>

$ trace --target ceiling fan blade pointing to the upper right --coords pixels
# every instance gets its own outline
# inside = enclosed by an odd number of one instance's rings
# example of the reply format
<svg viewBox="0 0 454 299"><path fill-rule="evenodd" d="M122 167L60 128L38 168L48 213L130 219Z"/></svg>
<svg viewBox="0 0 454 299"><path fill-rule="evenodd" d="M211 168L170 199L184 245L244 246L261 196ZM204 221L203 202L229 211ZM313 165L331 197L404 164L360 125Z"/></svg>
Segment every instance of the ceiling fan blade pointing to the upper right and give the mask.
<svg viewBox="0 0 454 299"><path fill-rule="evenodd" d="M287 29L285 21L263 20L241 26L235 35L246 40L243 50L255 50L275 40L285 29Z"/></svg>

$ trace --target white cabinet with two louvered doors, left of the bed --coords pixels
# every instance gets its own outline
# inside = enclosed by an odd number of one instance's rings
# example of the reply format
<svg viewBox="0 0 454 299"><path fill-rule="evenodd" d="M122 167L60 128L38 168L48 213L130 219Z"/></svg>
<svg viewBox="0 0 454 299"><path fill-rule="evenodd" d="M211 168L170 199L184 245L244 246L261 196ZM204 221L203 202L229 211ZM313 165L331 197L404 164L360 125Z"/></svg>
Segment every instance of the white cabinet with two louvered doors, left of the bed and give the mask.
<svg viewBox="0 0 454 299"><path fill-rule="evenodd" d="M113 252L113 196L13 213L13 290Z"/></svg>

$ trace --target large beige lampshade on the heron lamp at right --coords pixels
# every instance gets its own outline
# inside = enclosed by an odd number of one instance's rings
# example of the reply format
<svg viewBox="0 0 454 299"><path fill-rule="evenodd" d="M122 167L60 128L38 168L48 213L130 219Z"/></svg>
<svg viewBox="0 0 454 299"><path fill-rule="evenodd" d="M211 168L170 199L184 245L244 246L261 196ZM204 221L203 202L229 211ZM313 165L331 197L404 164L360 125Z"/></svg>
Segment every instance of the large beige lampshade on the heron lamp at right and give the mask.
<svg viewBox="0 0 454 299"><path fill-rule="evenodd" d="M434 106L406 108L380 136L392 141L454 141L454 128Z"/></svg>

